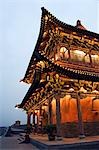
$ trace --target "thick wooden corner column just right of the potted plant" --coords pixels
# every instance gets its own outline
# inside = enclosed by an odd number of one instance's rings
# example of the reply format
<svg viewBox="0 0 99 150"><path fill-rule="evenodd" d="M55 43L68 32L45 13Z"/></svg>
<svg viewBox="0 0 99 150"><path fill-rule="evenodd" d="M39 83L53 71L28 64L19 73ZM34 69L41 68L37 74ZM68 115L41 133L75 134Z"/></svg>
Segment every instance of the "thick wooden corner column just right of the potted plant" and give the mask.
<svg viewBox="0 0 99 150"><path fill-rule="evenodd" d="M61 112L60 112L60 96L55 96L56 99L56 129L57 129L57 140L61 140Z"/></svg>

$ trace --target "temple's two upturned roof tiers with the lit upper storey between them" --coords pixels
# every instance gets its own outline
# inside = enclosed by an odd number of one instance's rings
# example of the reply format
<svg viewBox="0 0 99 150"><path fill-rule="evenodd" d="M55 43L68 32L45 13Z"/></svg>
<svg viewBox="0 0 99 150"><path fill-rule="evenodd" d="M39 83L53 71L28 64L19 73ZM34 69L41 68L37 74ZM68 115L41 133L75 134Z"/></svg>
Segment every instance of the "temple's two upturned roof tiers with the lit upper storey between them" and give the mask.
<svg viewBox="0 0 99 150"><path fill-rule="evenodd" d="M63 23L42 8L39 37L23 82L32 84L19 106L25 110L68 84L81 82L89 91L93 85L99 90L99 34L79 20L76 26Z"/></svg>

